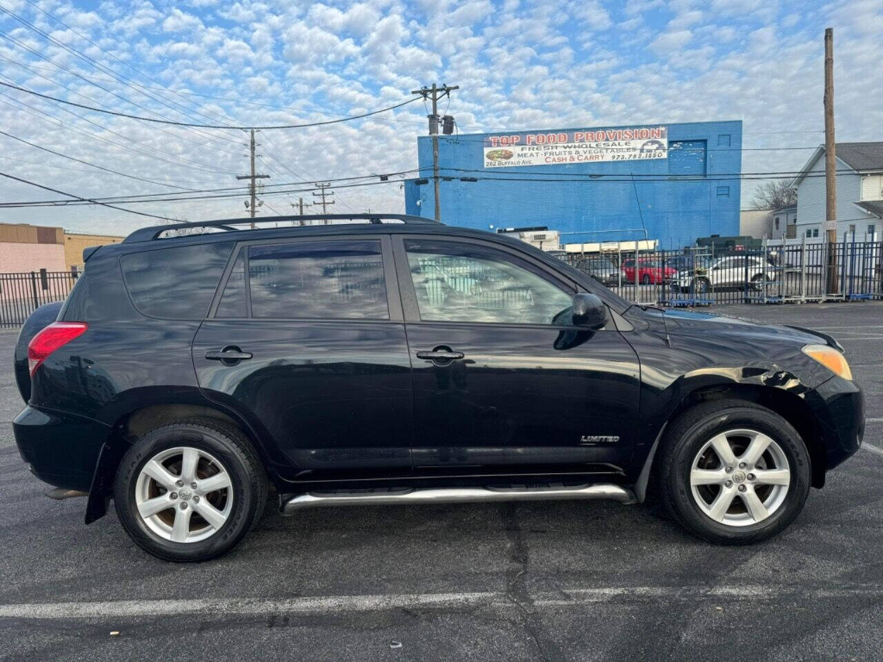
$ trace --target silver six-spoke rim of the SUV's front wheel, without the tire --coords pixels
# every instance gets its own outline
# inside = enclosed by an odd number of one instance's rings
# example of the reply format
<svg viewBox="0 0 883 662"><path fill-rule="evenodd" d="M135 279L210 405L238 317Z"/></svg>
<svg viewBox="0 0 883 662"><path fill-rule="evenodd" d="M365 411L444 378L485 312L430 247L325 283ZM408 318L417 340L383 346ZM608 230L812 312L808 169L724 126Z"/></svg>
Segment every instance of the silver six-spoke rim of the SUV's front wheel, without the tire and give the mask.
<svg viewBox="0 0 883 662"><path fill-rule="evenodd" d="M716 434L699 449L690 470L693 500L727 526L763 522L781 508L790 484L785 452L756 430Z"/></svg>

